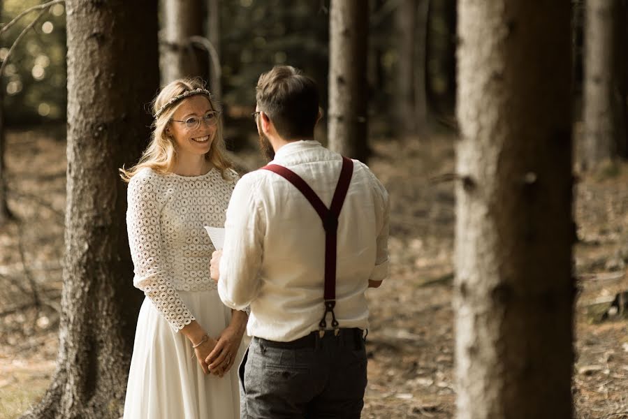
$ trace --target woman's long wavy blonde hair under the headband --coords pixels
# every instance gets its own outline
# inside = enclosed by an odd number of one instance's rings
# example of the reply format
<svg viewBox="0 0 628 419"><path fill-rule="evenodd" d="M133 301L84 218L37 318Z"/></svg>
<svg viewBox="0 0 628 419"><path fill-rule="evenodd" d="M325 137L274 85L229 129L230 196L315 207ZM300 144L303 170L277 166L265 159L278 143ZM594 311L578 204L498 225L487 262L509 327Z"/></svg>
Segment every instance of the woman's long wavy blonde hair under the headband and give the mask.
<svg viewBox="0 0 628 419"><path fill-rule="evenodd" d="M186 91L204 88L203 82L199 79L184 78L170 82L166 87L161 89L159 94L154 98L154 101L152 101L152 114L155 115L156 112L172 98L184 94ZM212 110L218 110L215 101L208 96L205 97L210 101ZM129 182L131 177L137 175L143 168L151 168L162 174L173 171L177 161L177 149L174 140L169 138L166 134L166 128L168 124L170 124L170 119L172 119L174 113L182 103L183 101L173 103L170 108L163 110L161 115L154 119L152 123L153 131L151 140L148 147L144 150L142 157L140 157L140 161L128 170L125 169L124 166L119 169L120 177L122 177L124 182ZM229 169L233 167L233 164L231 161L228 161L225 154L226 150L222 137L222 125L219 122L216 133L214 134L214 140L210 146L210 151L205 154L205 159L220 170L223 179L229 179L231 177L229 177L228 172Z"/></svg>

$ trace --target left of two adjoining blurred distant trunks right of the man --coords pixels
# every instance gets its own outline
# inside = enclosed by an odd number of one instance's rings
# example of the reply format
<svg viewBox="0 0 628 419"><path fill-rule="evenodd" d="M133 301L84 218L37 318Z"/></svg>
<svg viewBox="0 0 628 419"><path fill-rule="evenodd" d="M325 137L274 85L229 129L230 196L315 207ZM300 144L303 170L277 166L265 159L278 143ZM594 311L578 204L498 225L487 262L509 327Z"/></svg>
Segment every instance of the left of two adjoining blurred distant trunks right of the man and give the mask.
<svg viewBox="0 0 628 419"><path fill-rule="evenodd" d="M423 0L419 0L423 2ZM414 107L414 44L416 39L415 0L402 0L395 11L397 23L397 127L401 135L416 133Z"/></svg>

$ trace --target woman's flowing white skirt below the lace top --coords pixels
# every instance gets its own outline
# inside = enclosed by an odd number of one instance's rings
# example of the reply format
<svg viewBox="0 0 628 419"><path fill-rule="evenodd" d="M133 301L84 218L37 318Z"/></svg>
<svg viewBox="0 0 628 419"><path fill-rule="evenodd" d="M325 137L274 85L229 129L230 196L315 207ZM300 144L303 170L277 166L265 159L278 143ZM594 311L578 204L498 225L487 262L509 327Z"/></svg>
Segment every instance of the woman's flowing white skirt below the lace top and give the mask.
<svg viewBox="0 0 628 419"><path fill-rule="evenodd" d="M231 320L218 291L177 291L196 321L217 337ZM248 344L244 335L233 366L222 378L205 375L190 342L168 324L146 298L140 309L126 387L124 419L240 418L238 365Z"/></svg>

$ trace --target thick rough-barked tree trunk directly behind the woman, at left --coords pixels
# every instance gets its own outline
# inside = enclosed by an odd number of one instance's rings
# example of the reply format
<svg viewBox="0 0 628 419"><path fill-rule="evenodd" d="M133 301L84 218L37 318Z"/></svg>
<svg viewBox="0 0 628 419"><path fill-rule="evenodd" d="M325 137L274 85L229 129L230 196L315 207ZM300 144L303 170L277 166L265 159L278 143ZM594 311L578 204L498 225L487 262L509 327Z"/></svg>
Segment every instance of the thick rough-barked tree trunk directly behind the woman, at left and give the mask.
<svg viewBox="0 0 628 419"><path fill-rule="evenodd" d="M52 385L25 418L119 418L141 293L133 288L118 168L149 138L159 85L157 7L68 0L66 258ZM126 36L133 34L133 36Z"/></svg>

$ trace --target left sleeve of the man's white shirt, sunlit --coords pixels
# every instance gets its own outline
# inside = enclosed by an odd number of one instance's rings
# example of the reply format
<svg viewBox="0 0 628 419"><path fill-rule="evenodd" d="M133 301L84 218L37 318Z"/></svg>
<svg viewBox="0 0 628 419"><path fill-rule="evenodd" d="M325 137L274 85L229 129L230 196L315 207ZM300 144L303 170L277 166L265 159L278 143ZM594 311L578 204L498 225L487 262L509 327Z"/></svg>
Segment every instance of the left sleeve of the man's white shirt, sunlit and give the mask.
<svg viewBox="0 0 628 419"><path fill-rule="evenodd" d="M218 293L227 307L236 310L247 309L261 286L265 219L256 175L244 175L235 185L226 214Z"/></svg>

